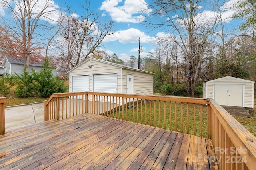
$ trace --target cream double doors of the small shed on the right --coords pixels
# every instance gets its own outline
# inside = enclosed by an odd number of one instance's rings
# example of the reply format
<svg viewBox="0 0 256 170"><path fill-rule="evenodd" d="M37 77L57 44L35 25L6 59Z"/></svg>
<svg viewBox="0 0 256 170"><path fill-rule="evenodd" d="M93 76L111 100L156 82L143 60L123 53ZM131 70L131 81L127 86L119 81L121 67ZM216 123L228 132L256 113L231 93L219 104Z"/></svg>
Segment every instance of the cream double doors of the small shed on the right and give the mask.
<svg viewBox="0 0 256 170"><path fill-rule="evenodd" d="M220 105L243 106L243 84L214 84L214 100Z"/></svg>

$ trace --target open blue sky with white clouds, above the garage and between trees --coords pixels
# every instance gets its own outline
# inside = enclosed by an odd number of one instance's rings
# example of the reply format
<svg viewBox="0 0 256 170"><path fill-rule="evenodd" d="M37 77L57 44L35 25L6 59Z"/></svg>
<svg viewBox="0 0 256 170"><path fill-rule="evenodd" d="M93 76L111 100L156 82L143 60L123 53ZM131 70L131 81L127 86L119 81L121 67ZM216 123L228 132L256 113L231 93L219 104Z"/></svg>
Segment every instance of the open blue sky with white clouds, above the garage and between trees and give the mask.
<svg viewBox="0 0 256 170"><path fill-rule="evenodd" d="M45 1L45 0L40 0ZM83 14L81 4L86 5L84 0L52 0L54 4L60 8L66 8L66 4L70 5L78 16ZM226 29L233 30L240 24L240 21L229 20L228 18L234 13L227 7L236 3L237 0L227 0L227 3L222 5L222 11L224 18L226 18ZM144 3L142 3L144 2ZM224 2L220 0L220 2ZM66 4L65 4L66 3ZM141 20L148 13L140 13L142 8L146 8L146 3L150 3L150 0L91 0L90 10L94 13L101 15L101 18L110 17L115 24L114 36L109 36L104 39L101 47L104 51L109 53L116 53L121 59L128 60L131 55L138 57L138 39L140 37L140 43L142 52L141 57L146 57L148 52L153 52L156 45L156 37L163 37L168 35L166 30L152 30L148 29L146 25L140 23ZM201 6L201 11L214 15L207 7ZM3 15L3 11L0 11ZM150 12L150 11L149 11ZM54 16L52 16L54 17ZM167 19L167 18L166 18ZM205 18L204 18L205 19Z"/></svg>

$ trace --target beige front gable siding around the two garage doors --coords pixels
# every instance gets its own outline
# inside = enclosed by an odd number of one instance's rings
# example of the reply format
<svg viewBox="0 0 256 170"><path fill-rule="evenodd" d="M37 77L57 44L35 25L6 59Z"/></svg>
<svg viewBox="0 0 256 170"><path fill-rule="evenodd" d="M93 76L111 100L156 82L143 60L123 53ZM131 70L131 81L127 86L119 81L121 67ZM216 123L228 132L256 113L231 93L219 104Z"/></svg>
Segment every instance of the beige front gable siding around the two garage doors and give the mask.
<svg viewBox="0 0 256 170"><path fill-rule="evenodd" d="M92 68L89 68L89 65L93 65ZM112 66L110 64L101 63L98 61L92 61L89 60L88 62L80 65L76 69L72 70L69 73L69 80L72 80L72 76L79 76L79 75L89 75L90 80L90 91L92 92L92 83L93 83L93 75L94 74L113 74L117 73L117 92L121 92L121 74L120 74L120 68L116 66ZM72 90L72 81L69 81L69 91Z"/></svg>

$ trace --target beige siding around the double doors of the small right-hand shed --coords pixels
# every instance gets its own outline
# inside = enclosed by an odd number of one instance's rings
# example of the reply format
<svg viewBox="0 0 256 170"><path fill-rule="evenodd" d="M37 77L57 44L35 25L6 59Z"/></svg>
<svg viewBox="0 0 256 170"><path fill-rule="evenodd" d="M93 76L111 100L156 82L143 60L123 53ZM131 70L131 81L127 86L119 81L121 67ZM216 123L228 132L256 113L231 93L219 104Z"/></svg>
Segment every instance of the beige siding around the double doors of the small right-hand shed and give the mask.
<svg viewBox="0 0 256 170"><path fill-rule="evenodd" d="M214 98L214 84L244 84L244 107L253 108L253 95L254 95L253 83L243 81L243 80L237 80L231 77L212 81L212 82L206 82L207 98Z"/></svg>

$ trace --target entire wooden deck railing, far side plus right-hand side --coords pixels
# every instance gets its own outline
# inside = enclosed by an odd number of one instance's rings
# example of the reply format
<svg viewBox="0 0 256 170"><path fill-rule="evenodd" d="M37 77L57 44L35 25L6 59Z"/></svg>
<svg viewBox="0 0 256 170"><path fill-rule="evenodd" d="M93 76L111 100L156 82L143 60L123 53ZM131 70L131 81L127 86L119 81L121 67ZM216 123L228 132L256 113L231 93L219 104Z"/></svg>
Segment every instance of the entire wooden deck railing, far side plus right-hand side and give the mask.
<svg viewBox="0 0 256 170"><path fill-rule="evenodd" d="M212 99L77 92L45 101L45 120L83 113L208 137L220 169L255 169L256 137Z"/></svg>

